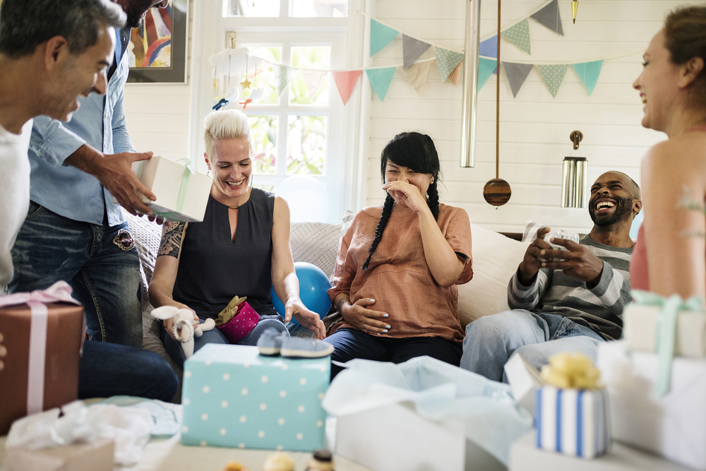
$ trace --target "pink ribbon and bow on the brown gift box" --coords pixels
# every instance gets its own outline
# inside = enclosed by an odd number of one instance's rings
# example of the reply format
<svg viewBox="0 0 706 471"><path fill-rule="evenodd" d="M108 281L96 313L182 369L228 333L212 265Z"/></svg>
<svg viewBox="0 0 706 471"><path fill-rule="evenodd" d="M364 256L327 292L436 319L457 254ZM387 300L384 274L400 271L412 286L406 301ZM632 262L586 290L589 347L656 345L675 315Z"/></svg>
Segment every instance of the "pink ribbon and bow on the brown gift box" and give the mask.
<svg viewBox="0 0 706 471"><path fill-rule="evenodd" d="M46 290L8 294L0 297L0 308L27 304L30 307L30 359L27 380L27 414L44 410L44 359L47 355L47 303L68 302L80 306L71 297L71 286L57 281Z"/></svg>

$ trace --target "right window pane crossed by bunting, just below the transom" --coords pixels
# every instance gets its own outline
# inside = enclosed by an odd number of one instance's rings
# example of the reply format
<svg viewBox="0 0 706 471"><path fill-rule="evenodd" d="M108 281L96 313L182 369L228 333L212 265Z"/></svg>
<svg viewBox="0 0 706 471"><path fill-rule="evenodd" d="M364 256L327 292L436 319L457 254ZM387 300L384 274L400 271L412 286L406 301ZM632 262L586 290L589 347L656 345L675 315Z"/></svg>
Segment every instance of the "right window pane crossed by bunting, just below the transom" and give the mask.
<svg viewBox="0 0 706 471"><path fill-rule="evenodd" d="M331 48L329 46L298 46L292 47L292 66L328 70L331 63ZM316 88L318 80L323 78L316 90L309 90L304 76L311 78L312 88ZM312 95L313 93L313 95ZM328 73L317 73L302 69L289 85L289 105L328 105Z"/></svg>

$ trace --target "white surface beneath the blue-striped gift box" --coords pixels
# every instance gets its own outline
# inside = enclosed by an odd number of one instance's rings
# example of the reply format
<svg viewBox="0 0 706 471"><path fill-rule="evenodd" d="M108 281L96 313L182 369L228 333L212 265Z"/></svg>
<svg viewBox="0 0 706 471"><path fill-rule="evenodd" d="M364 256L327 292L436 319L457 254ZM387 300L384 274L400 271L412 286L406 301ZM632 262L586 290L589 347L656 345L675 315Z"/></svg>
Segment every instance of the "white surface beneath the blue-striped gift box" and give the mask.
<svg viewBox="0 0 706 471"><path fill-rule="evenodd" d="M534 443L534 431L513 443L510 448L510 471L693 471L616 442L609 453L594 460L540 450Z"/></svg>

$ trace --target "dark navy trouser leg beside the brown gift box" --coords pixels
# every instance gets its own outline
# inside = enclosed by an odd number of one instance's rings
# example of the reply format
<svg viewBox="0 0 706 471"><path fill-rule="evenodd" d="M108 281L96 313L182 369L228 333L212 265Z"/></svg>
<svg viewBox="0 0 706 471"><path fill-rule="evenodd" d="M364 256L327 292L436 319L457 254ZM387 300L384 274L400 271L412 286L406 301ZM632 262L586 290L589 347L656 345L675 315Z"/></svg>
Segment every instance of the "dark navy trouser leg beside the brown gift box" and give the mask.
<svg viewBox="0 0 706 471"><path fill-rule="evenodd" d="M179 377L155 352L114 343L83 344L78 372L78 398L135 395L169 402L179 388Z"/></svg>

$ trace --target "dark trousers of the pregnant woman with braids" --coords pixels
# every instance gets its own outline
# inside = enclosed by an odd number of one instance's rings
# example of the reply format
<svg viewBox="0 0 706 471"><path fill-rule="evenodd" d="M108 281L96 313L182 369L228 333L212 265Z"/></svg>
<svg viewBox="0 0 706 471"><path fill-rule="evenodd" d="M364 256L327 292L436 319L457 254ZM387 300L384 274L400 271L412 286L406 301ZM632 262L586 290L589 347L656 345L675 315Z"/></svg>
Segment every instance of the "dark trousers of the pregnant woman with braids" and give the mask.
<svg viewBox="0 0 706 471"><path fill-rule="evenodd" d="M402 363L429 356L458 366L461 345L439 337L389 338L369 335L354 328L340 328L325 338L333 345L332 362L345 363L354 358L376 362ZM343 368L331 364L331 379Z"/></svg>

